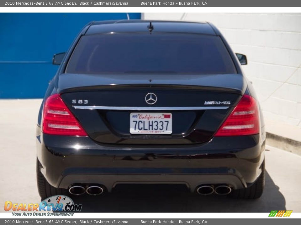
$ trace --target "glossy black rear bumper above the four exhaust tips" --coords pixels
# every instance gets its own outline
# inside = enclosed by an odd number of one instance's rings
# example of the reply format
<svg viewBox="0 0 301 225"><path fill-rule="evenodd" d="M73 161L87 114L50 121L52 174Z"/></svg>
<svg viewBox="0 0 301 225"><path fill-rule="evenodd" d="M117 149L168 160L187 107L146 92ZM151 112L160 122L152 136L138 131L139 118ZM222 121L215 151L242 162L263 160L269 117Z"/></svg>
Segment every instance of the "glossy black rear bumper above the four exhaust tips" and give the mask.
<svg viewBox="0 0 301 225"><path fill-rule="evenodd" d="M119 183L182 183L244 188L261 174L265 142L260 135L215 137L198 146L110 147L88 137L41 134L41 172L54 187L97 183L108 191Z"/></svg>

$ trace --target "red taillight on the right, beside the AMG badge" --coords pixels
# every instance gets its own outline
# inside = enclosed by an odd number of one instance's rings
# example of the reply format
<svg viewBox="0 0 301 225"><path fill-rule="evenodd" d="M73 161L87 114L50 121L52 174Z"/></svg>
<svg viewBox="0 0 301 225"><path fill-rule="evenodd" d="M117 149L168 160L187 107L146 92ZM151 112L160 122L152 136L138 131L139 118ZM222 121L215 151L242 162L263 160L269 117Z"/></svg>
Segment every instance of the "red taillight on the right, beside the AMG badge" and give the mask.
<svg viewBox="0 0 301 225"><path fill-rule="evenodd" d="M244 95L214 136L241 136L259 133L257 102Z"/></svg>

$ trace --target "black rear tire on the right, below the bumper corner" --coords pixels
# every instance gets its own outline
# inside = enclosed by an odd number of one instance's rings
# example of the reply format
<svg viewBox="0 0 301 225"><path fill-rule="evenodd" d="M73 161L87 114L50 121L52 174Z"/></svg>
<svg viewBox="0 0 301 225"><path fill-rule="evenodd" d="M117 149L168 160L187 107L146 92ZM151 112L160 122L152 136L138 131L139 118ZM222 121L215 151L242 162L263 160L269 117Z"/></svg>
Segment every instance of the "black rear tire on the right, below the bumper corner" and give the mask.
<svg viewBox="0 0 301 225"><path fill-rule="evenodd" d="M260 176L257 178L255 183L253 183L250 187L232 190L231 196L234 198L241 198L241 199L257 199L260 198L264 185L265 185L265 165L264 161L262 163L262 172Z"/></svg>

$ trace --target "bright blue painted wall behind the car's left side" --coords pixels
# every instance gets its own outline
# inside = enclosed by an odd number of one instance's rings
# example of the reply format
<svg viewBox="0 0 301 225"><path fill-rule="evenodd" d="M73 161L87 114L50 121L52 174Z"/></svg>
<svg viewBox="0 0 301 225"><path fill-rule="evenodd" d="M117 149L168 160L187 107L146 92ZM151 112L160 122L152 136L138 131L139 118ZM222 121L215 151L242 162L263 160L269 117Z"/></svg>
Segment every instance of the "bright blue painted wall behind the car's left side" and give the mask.
<svg viewBox="0 0 301 225"><path fill-rule="evenodd" d="M140 19L140 13L129 13ZM127 19L126 13L0 13L0 98L43 98L65 52L92 20Z"/></svg>

